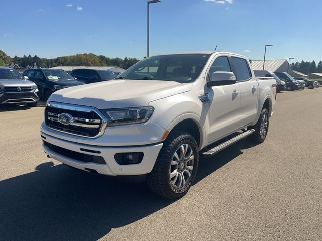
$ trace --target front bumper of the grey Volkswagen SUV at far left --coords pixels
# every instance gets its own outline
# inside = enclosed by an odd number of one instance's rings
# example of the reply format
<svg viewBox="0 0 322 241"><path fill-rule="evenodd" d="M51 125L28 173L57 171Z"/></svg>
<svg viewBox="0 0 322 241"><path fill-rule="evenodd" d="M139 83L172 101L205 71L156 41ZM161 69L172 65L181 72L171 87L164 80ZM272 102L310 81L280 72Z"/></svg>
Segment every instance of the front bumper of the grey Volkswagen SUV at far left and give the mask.
<svg viewBox="0 0 322 241"><path fill-rule="evenodd" d="M34 103L39 100L38 90L34 92L3 92L0 91L0 104Z"/></svg>

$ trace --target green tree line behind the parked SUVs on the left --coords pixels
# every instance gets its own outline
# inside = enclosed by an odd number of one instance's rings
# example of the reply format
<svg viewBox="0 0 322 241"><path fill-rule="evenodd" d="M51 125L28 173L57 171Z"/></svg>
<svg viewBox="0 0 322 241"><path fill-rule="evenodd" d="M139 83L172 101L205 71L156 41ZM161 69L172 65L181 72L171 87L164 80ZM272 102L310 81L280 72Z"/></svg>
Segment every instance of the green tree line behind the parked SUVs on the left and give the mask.
<svg viewBox="0 0 322 241"><path fill-rule="evenodd" d="M27 68L37 63L37 67L50 68L56 66L118 66L128 69L139 60L136 58L109 58L104 55L95 54L76 54L69 56L62 56L53 59L39 58L37 55L23 57L9 57L5 52L0 50L0 65L8 65L14 63L19 67Z"/></svg>

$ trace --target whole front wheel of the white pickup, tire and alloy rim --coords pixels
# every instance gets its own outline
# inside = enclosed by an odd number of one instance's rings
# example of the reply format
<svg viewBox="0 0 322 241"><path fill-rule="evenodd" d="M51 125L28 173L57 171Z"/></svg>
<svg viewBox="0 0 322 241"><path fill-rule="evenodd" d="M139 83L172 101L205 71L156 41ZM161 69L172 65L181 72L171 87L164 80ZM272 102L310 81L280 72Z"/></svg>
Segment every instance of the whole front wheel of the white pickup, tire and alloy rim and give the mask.
<svg viewBox="0 0 322 241"><path fill-rule="evenodd" d="M199 163L198 145L194 137L174 131L166 139L147 184L156 194L175 199L184 196L191 187Z"/></svg>

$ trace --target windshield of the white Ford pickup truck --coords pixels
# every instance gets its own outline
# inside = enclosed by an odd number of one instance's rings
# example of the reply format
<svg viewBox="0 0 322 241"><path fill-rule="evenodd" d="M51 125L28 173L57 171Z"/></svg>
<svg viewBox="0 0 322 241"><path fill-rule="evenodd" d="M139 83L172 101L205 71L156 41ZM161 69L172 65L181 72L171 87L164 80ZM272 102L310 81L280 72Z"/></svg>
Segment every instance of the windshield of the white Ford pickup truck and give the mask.
<svg viewBox="0 0 322 241"><path fill-rule="evenodd" d="M193 82L209 54L173 54L147 57L119 75L120 79L170 80Z"/></svg>

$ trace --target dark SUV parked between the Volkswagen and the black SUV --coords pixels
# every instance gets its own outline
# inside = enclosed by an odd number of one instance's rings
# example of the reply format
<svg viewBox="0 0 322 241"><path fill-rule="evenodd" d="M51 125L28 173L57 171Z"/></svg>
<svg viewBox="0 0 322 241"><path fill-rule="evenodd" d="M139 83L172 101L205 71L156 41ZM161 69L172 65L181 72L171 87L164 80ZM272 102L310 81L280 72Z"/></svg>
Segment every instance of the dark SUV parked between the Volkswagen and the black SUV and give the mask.
<svg viewBox="0 0 322 241"><path fill-rule="evenodd" d="M23 75L37 84L40 96L46 101L56 90L84 84L60 69L30 68Z"/></svg>

